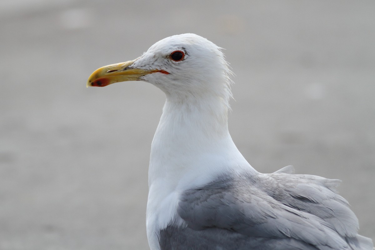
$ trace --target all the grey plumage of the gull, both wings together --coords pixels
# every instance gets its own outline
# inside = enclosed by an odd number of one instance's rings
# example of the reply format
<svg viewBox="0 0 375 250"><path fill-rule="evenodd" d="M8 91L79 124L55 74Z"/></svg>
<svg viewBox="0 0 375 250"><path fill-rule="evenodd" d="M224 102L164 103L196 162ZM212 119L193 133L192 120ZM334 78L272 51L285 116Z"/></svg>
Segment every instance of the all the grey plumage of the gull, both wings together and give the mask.
<svg viewBox="0 0 375 250"><path fill-rule="evenodd" d="M184 191L177 212L187 227L163 229L161 249L184 249L183 242L186 249L372 249L336 192L338 180L290 172L287 166L273 174L220 176Z"/></svg>

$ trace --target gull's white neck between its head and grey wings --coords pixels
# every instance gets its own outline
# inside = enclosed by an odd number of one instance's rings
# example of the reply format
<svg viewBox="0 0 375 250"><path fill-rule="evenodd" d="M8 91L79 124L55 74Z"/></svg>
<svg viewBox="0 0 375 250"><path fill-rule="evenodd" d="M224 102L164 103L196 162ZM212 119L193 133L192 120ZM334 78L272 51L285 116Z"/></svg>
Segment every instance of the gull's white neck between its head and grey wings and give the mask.
<svg viewBox="0 0 375 250"><path fill-rule="evenodd" d="M227 120L227 100L206 96L175 102L167 96L151 145L149 187L186 189L217 174L251 168L234 145Z"/></svg>

